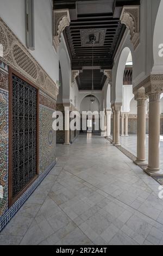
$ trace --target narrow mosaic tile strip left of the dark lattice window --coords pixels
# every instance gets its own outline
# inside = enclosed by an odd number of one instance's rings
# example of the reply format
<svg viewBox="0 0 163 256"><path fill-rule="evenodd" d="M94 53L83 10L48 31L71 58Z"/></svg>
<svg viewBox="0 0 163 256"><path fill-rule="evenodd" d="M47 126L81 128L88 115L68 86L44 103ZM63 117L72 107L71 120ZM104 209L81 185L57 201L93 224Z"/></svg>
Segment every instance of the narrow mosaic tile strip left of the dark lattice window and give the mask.
<svg viewBox="0 0 163 256"><path fill-rule="evenodd" d="M8 89L8 66L0 62L0 216L8 209L8 92L3 89Z"/></svg>

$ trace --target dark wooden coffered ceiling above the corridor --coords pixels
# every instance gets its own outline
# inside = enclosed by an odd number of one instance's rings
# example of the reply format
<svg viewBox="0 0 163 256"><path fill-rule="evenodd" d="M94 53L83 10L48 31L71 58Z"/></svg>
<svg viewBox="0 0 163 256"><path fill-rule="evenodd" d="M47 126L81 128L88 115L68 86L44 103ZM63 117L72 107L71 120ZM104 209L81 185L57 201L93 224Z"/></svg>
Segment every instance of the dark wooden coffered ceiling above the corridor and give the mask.
<svg viewBox="0 0 163 256"><path fill-rule="evenodd" d="M54 9L69 9L70 26L64 36L71 58L72 70L79 70L79 90L92 86L92 47L89 35L96 35L93 47L93 77L96 90L105 83L104 69L112 69L114 56L126 29L120 22L123 5L139 5L140 0L55 0Z"/></svg>

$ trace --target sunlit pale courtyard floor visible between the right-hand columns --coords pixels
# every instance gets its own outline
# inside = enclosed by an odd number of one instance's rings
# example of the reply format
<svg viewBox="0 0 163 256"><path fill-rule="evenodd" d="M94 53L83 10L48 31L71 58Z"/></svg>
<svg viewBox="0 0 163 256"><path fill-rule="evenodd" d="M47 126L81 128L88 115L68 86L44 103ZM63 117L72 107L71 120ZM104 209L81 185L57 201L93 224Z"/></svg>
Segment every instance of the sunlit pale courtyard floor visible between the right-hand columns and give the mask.
<svg viewBox="0 0 163 256"><path fill-rule="evenodd" d="M137 136L129 134L128 137L120 137L122 147L136 156ZM146 135L146 160L148 162L148 135ZM160 135L160 168L163 170L163 135Z"/></svg>

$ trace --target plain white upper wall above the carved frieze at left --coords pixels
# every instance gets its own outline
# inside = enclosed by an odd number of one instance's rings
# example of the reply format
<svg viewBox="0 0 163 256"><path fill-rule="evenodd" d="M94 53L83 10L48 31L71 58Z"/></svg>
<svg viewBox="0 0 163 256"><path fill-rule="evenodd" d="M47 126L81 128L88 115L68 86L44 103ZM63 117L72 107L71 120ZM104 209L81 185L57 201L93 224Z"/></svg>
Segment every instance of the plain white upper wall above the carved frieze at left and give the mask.
<svg viewBox="0 0 163 256"><path fill-rule="evenodd" d="M53 48L53 6L51 0L34 1L35 50L29 52L53 81L59 78L58 57ZM26 46L26 16L24 0L1 0L0 16Z"/></svg>

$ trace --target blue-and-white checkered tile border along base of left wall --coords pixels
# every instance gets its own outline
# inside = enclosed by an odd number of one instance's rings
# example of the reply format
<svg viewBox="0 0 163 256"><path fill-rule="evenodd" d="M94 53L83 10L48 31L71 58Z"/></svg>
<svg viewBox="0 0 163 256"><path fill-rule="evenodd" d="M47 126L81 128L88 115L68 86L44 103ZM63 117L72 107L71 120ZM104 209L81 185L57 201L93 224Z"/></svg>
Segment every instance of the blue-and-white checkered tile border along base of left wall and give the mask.
<svg viewBox="0 0 163 256"><path fill-rule="evenodd" d="M46 175L51 171L51 169L55 166L56 162L53 162L45 172L41 173L38 179L28 188L28 190L16 201L14 205L0 218L0 232L8 224L12 217L16 214L16 212L21 208L21 206L26 202L29 196L35 191L37 186L41 183L41 181L46 177Z"/></svg>

